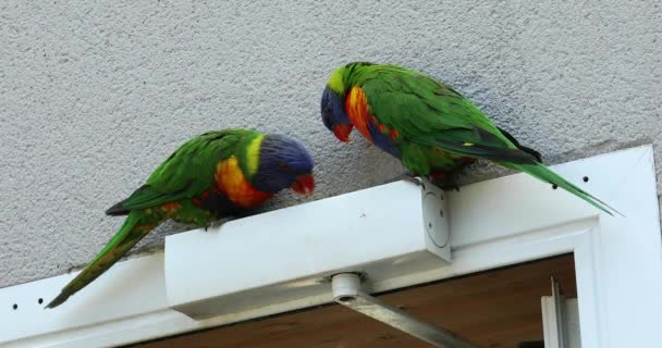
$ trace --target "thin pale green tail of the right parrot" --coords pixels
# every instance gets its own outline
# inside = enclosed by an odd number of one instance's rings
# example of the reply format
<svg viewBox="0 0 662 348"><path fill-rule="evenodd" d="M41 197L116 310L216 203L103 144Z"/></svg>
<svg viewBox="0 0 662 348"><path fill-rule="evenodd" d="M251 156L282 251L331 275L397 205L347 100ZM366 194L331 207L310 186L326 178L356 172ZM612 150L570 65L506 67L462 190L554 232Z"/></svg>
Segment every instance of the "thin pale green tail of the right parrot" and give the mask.
<svg viewBox="0 0 662 348"><path fill-rule="evenodd" d="M589 204L600 209L601 211L610 214L610 215L614 215L614 213L624 216L620 211L617 211L616 209L610 207L608 203L605 203L604 201L600 200L599 198L597 198L596 196L585 191L584 189L577 187L575 184L566 181L565 178L563 178L561 175L554 173L552 170L550 170L549 167L544 166L542 163L538 163L538 164L512 164L512 163L503 163L500 162L501 165L514 169L514 170L518 170L520 172L527 173L542 182L552 184L552 185L556 185L557 187L561 187L563 189L565 189L566 191L581 198L583 200L585 200L586 202L588 202Z"/></svg>

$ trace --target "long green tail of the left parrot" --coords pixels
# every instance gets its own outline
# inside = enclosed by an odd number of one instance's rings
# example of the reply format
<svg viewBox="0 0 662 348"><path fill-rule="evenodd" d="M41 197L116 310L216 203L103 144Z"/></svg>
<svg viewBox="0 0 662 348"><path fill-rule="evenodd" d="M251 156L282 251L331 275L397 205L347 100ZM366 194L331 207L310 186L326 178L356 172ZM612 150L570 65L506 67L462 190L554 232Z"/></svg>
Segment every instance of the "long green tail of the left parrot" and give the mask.
<svg viewBox="0 0 662 348"><path fill-rule="evenodd" d="M74 279L62 288L60 295L50 301L46 308L56 308L62 304L72 295L99 277L99 275L110 269L136 243L160 223L160 221L158 223L143 221L144 219L142 217L145 217L145 215L140 211L131 211L120 231L110 239L106 247L101 249L97 257Z"/></svg>

